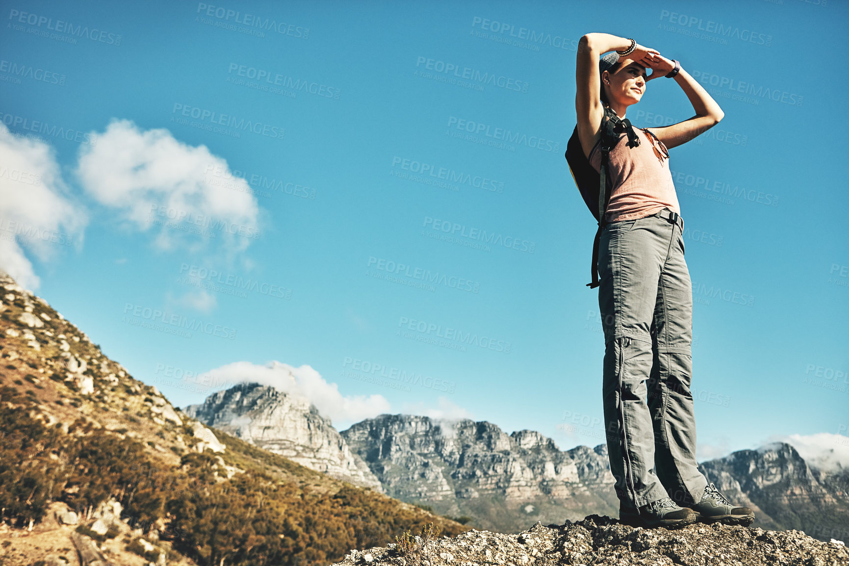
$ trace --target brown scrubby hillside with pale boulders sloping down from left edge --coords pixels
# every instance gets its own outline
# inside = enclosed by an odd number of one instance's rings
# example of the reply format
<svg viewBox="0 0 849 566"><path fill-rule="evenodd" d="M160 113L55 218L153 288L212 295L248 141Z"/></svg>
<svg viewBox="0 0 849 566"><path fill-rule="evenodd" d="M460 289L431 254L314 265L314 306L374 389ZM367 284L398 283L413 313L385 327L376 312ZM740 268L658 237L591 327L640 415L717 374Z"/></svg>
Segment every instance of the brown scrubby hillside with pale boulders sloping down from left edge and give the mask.
<svg viewBox="0 0 849 566"><path fill-rule="evenodd" d="M0 563L329 563L429 522L465 530L205 429L0 286Z"/></svg>

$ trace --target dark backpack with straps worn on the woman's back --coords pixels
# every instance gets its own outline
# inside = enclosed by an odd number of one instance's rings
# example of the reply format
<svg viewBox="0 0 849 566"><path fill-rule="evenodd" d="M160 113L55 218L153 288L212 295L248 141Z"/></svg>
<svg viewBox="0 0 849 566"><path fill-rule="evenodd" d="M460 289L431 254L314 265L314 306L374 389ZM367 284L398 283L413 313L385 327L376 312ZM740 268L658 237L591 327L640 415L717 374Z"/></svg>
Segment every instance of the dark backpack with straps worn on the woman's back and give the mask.
<svg viewBox="0 0 849 566"><path fill-rule="evenodd" d="M593 169L589 160L583 154L581 147L581 139L578 137L578 126L575 126L575 131L572 132L572 137L566 143L566 163L569 164L569 171L572 174L572 179L584 204L590 212L593 213L595 219L599 221L599 229L595 233L593 240L593 265L591 272L593 274L592 283L587 283L590 289L595 289L599 286L599 239L601 231L607 226L607 218L604 213L607 211L607 205L610 203L610 193L613 190L613 180L607 175L607 161L610 150L616 147L621 139L621 133L626 132L628 141L627 146L634 148L639 145L639 137L637 132L633 131L631 121L627 118L619 118L610 106L604 106L604 117L601 120L601 166L599 172Z"/></svg>

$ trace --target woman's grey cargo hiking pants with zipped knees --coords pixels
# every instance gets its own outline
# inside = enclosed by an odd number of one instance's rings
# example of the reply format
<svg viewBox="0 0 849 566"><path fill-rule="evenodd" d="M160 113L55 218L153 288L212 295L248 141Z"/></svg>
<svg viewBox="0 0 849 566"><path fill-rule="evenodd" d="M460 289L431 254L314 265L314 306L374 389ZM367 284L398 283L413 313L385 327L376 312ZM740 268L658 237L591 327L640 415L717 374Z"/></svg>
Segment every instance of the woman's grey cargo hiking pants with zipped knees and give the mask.
<svg viewBox="0 0 849 566"><path fill-rule="evenodd" d="M664 209L610 222L599 242L604 423L624 506L672 497L686 507L707 480L695 461L693 291L683 220ZM647 401L648 399L648 401Z"/></svg>

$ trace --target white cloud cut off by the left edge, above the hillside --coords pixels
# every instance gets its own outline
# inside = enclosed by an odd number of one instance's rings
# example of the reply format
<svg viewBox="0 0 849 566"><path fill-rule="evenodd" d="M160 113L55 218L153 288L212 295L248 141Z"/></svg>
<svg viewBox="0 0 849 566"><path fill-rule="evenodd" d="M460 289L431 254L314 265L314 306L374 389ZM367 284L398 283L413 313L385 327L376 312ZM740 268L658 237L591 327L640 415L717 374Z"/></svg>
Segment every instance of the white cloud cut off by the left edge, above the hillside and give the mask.
<svg viewBox="0 0 849 566"><path fill-rule="evenodd" d="M0 123L0 268L26 289L39 278L26 251L48 261L82 244L87 215L70 198L55 152Z"/></svg>

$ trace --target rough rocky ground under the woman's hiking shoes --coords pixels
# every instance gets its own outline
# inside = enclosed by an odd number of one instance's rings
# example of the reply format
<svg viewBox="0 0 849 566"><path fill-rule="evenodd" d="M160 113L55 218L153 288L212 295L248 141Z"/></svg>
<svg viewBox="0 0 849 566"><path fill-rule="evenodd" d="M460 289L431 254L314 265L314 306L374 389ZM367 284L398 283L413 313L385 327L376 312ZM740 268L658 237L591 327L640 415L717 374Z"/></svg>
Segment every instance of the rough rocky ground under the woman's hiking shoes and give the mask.
<svg viewBox="0 0 849 566"><path fill-rule="evenodd" d="M798 530L771 531L723 524L678 529L640 529L592 515L563 525L534 524L518 535L470 530L453 538L423 541L413 552L392 544L351 551L340 566L555 566L559 564L786 564L841 566L849 551L841 541L823 542Z"/></svg>

